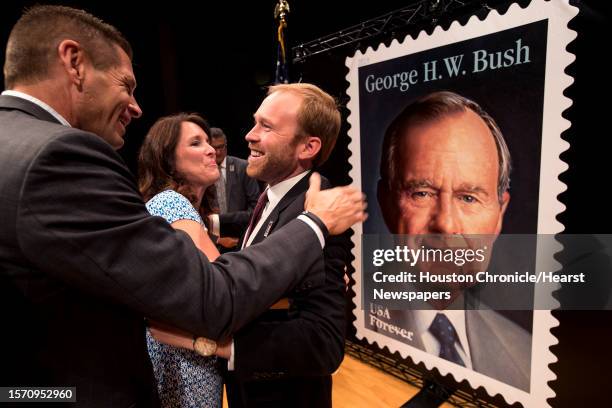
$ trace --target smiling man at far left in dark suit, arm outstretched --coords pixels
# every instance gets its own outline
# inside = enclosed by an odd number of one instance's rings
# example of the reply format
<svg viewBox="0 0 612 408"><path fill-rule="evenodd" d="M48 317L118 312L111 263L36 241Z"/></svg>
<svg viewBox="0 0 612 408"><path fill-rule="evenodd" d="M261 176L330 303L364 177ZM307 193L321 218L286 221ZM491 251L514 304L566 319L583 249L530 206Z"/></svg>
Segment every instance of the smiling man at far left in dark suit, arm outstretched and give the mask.
<svg viewBox="0 0 612 408"><path fill-rule="evenodd" d="M79 406L156 406L143 317L227 338L287 291L321 284L313 266L325 229L341 233L364 216L359 192L319 192L315 182L311 213L209 263L186 234L148 215L113 150L142 113L131 55L114 27L63 6L28 10L10 34L0 96L2 386L76 387Z"/></svg>

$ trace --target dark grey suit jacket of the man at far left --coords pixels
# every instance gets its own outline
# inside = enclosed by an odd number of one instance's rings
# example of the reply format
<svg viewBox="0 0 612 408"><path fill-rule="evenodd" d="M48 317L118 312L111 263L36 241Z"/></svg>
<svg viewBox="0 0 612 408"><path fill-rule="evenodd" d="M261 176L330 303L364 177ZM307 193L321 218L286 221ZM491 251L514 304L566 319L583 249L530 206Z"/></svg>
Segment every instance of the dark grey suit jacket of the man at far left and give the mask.
<svg viewBox="0 0 612 408"><path fill-rule="evenodd" d="M28 101L0 96L0 146L2 386L76 386L79 406L154 406L144 317L224 338L324 279L320 243L299 220L209 263L148 214L106 142Z"/></svg>

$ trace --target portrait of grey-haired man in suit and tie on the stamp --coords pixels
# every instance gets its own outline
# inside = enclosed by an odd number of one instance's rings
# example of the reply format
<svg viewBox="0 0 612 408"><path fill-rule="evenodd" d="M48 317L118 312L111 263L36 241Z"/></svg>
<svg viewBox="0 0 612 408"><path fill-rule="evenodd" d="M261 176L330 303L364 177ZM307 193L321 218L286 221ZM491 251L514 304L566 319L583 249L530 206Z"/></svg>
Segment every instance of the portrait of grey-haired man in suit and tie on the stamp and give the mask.
<svg viewBox="0 0 612 408"><path fill-rule="evenodd" d="M474 101L434 92L406 106L385 133L380 174L378 202L393 234L469 245L476 234L493 242L501 231L510 153L493 118ZM477 268L486 262L419 270L467 274L485 270ZM414 335L389 336L528 390L530 334L496 311L461 310L472 285L441 283L436 290L450 298L430 301L433 310L391 311L389 323ZM452 344L445 344L451 336Z"/></svg>

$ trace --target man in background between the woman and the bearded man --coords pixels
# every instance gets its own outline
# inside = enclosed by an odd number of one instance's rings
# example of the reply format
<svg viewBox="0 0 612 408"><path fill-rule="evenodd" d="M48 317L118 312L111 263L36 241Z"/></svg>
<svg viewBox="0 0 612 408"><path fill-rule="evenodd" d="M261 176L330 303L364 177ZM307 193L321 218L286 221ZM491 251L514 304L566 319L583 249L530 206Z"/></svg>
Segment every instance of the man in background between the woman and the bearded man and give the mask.
<svg viewBox="0 0 612 408"><path fill-rule="evenodd" d="M210 216L211 232L219 237L219 249L225 252L237 249L260 191L257 180L246 174L247 161L227 154L227 137L222 129L210 128L210 144L221 173L215 183L219 214Z"/></svg>

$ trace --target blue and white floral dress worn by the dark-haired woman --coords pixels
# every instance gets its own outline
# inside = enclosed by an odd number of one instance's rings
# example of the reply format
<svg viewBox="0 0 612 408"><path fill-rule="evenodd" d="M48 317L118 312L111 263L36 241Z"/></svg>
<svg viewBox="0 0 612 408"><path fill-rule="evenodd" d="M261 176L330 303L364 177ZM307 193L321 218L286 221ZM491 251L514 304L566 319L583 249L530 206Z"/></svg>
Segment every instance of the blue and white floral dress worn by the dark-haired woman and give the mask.
<svg viewBox="0 0 612 408"><path fill-rule="evenodd" d="M163 217L170 224L177 220L202 223L189 200L176 191L163 191L146 206L151 215ZM191 350L162 344L148 330L147 346L162 407L221 407L223 380L216 368L216 357L202 357Z"/></svg>

